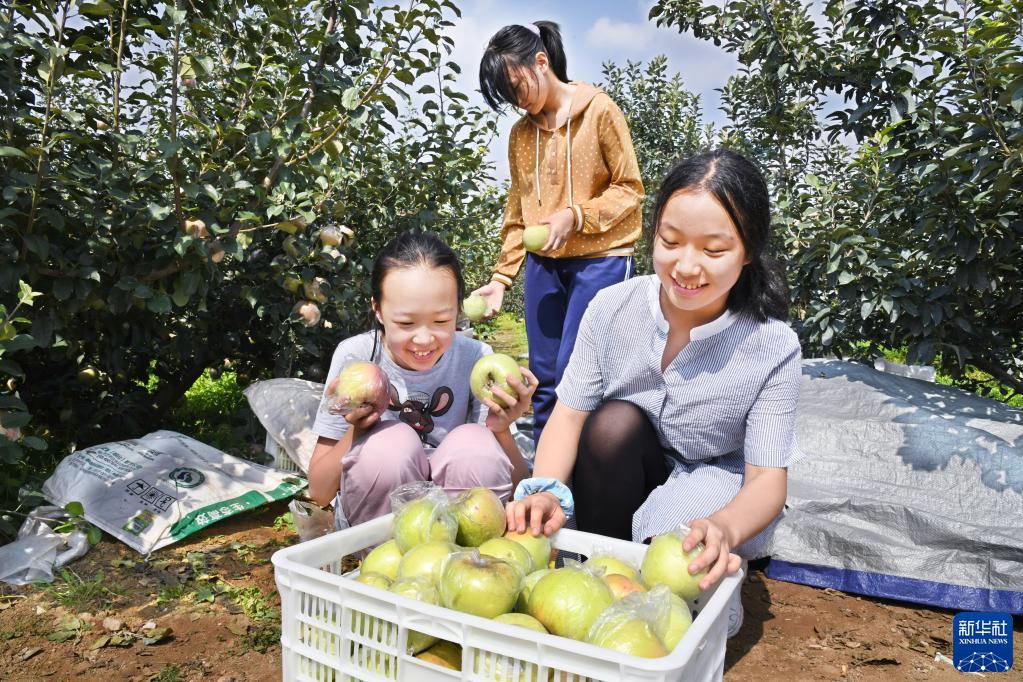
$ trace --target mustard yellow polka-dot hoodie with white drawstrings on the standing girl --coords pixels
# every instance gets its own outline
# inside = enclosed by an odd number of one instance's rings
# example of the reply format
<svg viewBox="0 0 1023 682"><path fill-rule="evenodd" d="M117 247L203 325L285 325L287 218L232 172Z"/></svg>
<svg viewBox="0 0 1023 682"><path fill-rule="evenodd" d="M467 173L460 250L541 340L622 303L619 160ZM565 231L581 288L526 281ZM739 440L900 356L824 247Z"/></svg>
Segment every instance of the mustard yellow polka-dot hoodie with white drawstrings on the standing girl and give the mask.
<svg viewBox="0 0 1023 682"><path fill-rule="evenodd" d="M549 258L631 256L642 230L642 180L618 105L599 88L576 86L565 121L547 129L523 116L511 127L511 186L492 279L510 286L526 252L522 230L571 207L576 231Z"/></svg>

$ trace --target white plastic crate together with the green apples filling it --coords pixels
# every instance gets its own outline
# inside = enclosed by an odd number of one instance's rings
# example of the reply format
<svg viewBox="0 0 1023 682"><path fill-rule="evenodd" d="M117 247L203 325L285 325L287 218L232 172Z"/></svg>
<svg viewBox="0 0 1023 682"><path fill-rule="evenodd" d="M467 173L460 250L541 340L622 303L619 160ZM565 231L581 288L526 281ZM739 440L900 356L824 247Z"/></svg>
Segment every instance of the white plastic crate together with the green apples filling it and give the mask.
<svg viewBox="0 0 1023 682"><path fill-rule="evenodd" d="M274 554L284 679L721 678L741 576L701 592L684 529L649 547L510 533L490 490L449 498L431 484L399 489L392 508Z"/></svg>

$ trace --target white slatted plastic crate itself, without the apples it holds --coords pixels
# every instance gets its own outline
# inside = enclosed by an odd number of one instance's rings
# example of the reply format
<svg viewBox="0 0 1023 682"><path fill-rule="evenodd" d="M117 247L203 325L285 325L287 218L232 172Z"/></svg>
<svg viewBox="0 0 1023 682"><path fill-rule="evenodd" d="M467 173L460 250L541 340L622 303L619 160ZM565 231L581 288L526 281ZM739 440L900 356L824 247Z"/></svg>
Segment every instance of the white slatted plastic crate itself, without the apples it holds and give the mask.
<svg viewBox="0 0 1023 682"><path fill-rule="evenodd" d="M698 613L674 651L661 658L640 658L392 594L352 580L356 572L342 577L344 555L380 544L391 535L392 514L388 514L274 553L284 680L721 679L727 602L741 585L741 572L690 602ZM632 559L636 565L647 551L646 545L570 529L551 539L567 552L589 555L599 548ZM459 644L461 671L442 669L405 653L409 630Z"/></svg>

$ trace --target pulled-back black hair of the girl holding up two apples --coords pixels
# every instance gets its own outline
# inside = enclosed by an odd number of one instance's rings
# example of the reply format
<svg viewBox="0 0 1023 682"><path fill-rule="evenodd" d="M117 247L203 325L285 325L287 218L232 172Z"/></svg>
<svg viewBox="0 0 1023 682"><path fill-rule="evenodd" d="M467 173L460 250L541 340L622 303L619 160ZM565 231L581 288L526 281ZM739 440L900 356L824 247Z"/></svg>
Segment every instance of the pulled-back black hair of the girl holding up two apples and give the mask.
<svg viewBox="0 0 1023 682"><path fill-rule="evenodd" d="M384 278L393 270L415 267L447 268L451 271L457 285L458 293L455 301L465 297L465 279L461 274L461 264L454 251L444 243L444 240L433 232L408 230L389 241L376 255L373 271L369 276L369 290L373 301L380 307L384 300ZM372 311L369 311L370 324L373 330L373 351L370 357L376 356L376 339L383 333L380 321ZM380 332L380 333L376 333Z"/></svg>

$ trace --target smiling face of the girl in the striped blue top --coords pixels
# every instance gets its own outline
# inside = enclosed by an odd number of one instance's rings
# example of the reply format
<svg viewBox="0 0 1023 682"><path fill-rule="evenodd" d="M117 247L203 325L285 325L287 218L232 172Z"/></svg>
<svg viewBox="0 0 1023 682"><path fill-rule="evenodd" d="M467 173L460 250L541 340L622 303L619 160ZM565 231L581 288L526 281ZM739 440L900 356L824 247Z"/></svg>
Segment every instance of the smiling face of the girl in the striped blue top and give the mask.
<svg viewBox="0 0 1023 682"><path fill-rule="evenodd" d="M669 321L682 316L698 326L719 316L749 262L739 231L711 193L682 190L665 203L654 235L654 272Z"/></svg>

